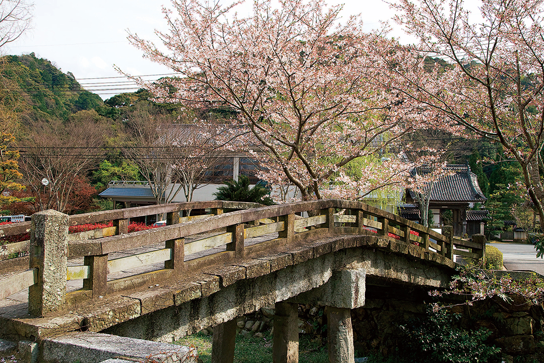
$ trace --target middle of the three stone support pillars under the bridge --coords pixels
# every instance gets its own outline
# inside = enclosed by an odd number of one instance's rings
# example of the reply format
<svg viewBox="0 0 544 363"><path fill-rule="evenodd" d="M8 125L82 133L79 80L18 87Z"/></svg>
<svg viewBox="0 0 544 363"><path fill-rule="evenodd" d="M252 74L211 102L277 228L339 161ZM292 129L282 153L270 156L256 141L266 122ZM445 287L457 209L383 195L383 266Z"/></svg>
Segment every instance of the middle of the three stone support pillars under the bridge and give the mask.
<svg viewBox="0 0 544 363"><path fill-rule="evenodd" d="M299 304L275 304L273 363L298 363L299 361Z"/></svg>

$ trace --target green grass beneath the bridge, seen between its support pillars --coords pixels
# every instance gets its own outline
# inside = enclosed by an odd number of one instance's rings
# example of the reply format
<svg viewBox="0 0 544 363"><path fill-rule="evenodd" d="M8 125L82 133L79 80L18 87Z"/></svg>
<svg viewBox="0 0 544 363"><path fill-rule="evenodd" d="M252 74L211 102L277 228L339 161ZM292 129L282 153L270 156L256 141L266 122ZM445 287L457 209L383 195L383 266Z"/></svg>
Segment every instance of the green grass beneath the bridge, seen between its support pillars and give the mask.
<svg viewBox="0 0 544 363"><path fill-rule="evenodd" d="M272 361L272 337L269 333L264 334L264 338L237 335L234 363L270 363ZM212 336L197 333L184 337L176 344L196 347L202 363L212 361ZM304 334L299 336L299 362L327 363L328 361L326 347L320 346L318 341L312 341Z"/></svg>

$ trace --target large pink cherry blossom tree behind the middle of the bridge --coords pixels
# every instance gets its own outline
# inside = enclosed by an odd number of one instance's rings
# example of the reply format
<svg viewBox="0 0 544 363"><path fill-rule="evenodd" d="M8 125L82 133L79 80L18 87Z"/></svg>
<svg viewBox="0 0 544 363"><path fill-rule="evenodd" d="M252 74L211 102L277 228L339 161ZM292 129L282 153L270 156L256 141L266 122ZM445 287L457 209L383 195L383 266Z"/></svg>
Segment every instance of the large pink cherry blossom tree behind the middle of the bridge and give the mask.
<svg viewBox="0 0 544 363"><path fill-rule="evenodd" d="M282 173L263 176L296 186L303 200L359 197L406 172L387 156L422 122L397 113L396 95L371 77L380 35L363 33L357 17L339 22L341 7L320 0L280 0L277 7L257 0L248 17L233 14L236 5L172 1L164 9L169 30L157 32L160 49L131 34L145 57L180 73L140 80L143 87L162 102L236 112L269 170ZM370 155L377 163L351 178L348 165Z"/></svg>

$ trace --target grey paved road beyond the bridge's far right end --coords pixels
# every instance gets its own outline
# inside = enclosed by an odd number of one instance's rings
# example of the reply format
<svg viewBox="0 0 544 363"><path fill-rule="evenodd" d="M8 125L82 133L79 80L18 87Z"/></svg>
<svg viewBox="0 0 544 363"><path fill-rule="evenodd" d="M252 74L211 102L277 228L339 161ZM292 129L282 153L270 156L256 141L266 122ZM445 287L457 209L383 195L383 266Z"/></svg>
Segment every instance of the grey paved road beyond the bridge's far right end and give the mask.
<svg viewBox="0 0 544 363"><path fill-rule="evenodd" d="M530 270L544 275L544 259L536 258L535 247L532 244L520 243L490 243L503 253L503 263L506 269Z"/></svg>

